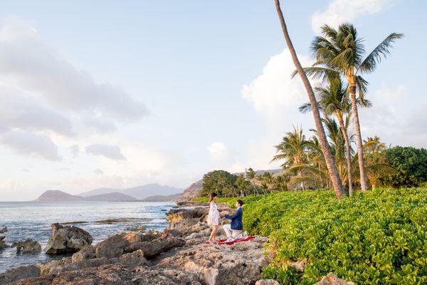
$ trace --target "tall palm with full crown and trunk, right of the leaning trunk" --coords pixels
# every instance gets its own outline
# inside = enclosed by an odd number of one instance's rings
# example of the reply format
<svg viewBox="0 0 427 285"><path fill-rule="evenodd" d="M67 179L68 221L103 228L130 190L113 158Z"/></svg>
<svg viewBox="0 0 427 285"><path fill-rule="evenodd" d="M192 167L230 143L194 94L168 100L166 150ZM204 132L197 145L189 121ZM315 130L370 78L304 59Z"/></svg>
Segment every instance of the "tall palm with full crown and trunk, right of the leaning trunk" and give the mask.
<svg viewBox="0 0 427 285"><path fill-rule="evenodd" d="M367 175L364 169L362 133L360 132L356 93L359 93L359 100L363 101L368 83L361 74L374 72L378 63L381 62L381 58L386 58L390 53L392 43L404 35L403 33L390 33L366 58L363 58L365 54L363 39L357 35L357 30L352 24L342 24L337 30L325 25L322 26L322 34L323 36L317 36L312 42L311 49L316 58L313 67L303 68L303 70L315 78L325 79L334 74L347 78L357 136L360 185L362 191L365 191L368 189ZM299 70L297 72L300 73Z"/></svg>

